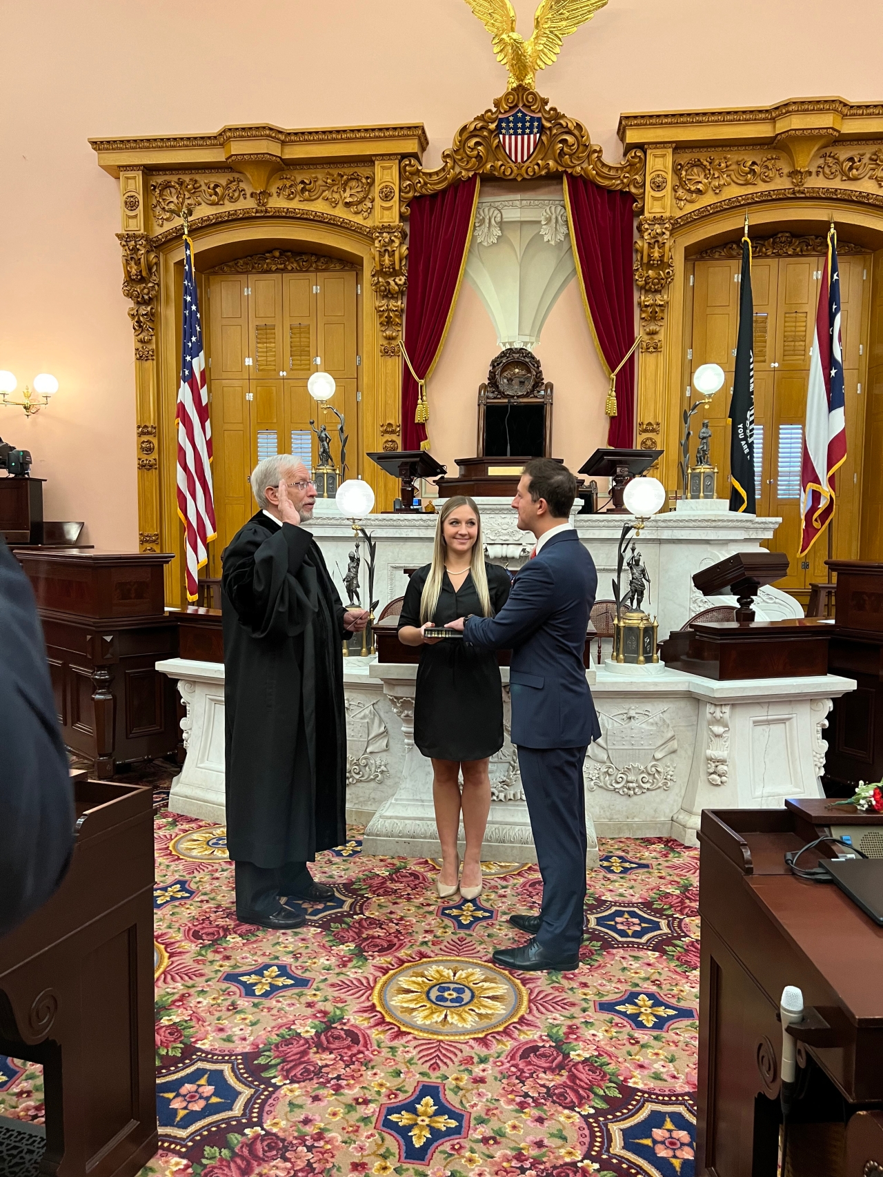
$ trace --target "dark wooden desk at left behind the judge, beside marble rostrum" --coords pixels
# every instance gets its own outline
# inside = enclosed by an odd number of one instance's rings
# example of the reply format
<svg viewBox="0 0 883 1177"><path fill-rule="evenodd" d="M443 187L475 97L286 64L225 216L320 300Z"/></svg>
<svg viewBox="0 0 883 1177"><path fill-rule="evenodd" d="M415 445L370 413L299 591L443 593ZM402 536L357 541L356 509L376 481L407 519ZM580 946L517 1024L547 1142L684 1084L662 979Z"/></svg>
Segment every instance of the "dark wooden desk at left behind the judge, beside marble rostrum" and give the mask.
<svg viewBox="0 0 883 1177"><path fill-rule="evenodd" d="M46 637L65 744L112 777L118 762L167 756L179 743L174 683L154 663L178 653L164 610L172 556L16 548Z"/></svg>

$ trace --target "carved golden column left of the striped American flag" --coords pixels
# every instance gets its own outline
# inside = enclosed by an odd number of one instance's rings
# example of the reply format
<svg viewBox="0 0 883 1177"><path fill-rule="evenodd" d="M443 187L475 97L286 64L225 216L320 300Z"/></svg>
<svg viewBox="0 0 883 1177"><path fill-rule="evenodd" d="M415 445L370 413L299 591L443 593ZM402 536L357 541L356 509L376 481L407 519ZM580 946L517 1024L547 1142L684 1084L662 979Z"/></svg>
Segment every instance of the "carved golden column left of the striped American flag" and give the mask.
<svg viewBox="0 0 883 1177"><path fill-rule="evenodd" d="M120 168L122 293L131 300L135 346L135 445L138 448L138 544L160 551L159 463L157 459L155 317L159 259L145 232L145 175L140 167Z"/></svg>

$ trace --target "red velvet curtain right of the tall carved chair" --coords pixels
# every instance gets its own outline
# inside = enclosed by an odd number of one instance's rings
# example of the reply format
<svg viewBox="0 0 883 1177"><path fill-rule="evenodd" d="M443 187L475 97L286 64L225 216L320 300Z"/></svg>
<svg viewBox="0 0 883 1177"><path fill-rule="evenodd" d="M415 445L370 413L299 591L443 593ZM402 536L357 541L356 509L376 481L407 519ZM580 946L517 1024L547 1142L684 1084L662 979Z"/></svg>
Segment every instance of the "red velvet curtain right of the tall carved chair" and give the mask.
<svg viewBox="0 0 883 1177"><path fill-rule="evenodd" d="M635 343L632 278L635 198L600 188L582 175L564 177L564 193L589 325L608 375ZM616 378L617 415L610 418L608 445L635 445L635 357Z"/></svg>

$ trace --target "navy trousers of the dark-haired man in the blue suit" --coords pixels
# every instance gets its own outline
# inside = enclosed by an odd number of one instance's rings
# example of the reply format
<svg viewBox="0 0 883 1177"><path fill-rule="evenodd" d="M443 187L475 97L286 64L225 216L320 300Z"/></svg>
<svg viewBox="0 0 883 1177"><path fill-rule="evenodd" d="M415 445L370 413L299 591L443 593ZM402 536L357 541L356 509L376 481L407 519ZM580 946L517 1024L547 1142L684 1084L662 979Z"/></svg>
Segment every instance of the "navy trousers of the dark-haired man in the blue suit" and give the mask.
<svg viewBox="0 0 883 1177"><path fill-rule="evenodd" d="M585 747L522 747L524 797L543 877L537 943L557 957L576 957L585 903Z"/></svg>

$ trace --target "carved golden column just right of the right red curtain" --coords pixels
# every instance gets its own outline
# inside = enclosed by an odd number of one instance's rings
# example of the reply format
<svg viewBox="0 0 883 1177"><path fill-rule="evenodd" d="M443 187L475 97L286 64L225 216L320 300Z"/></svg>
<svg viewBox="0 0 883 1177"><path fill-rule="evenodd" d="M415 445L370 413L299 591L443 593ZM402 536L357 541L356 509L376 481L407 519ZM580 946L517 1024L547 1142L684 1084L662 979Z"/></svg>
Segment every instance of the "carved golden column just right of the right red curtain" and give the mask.
<svg viewBox="0 0 883 1177"><path fill-rule="evenodd" d="M666 452L676 448L671 439L660 435L668 386L663 338L669 287L675 277L671 260L671 144L646 148L644 215L638 220L638 240L635 242L635 284L638 287L642 334L637 444L644 450L665 448Z"/></svg>

